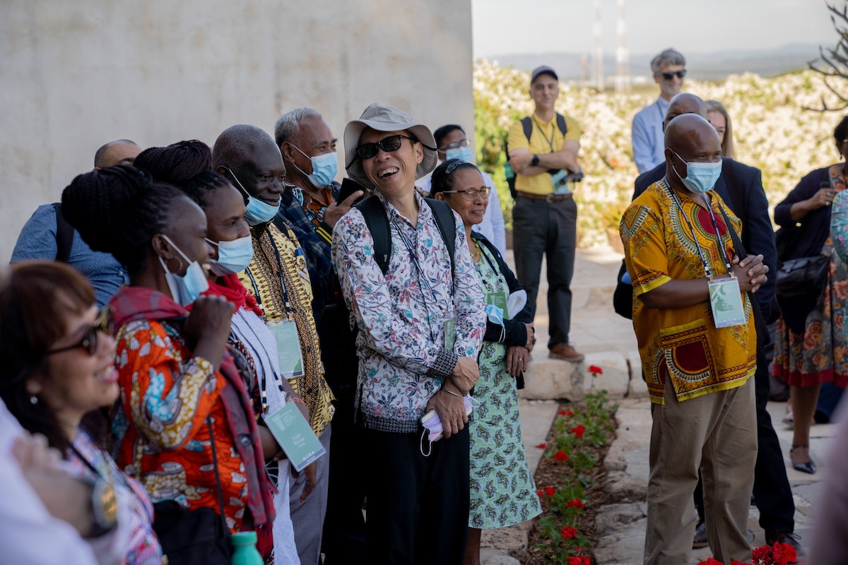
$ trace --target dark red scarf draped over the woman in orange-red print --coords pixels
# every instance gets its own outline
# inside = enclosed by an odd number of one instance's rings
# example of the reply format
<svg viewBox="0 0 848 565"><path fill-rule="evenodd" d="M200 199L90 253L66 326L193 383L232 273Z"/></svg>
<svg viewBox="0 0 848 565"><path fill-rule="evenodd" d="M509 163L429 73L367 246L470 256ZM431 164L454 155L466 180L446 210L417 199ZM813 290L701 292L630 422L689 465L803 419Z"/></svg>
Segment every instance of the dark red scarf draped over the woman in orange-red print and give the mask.
<svg viewBox="0 0 848 565"><path fill-rule="evenodd" d="M146 286L125 286L112 297L109 306L114 309L115 328L139 319L182 321L188 315L187 309L171 300L169 296ZM176 324L175 327L181 330L181 324ZM238 452L244 462L245 475L248 477L248 507L251 516L257 526L262 523L271 524L276 515L273 496L275 490L265 473L265 458L262 454L262 445L259 443L254 409L242 375L238 373L236 363L226 351L221 358L219 371L229 385L221 390L219 398L226 411L226 423L232 437L232 448ZM243 446L238 438L246 435L251 437L253 442Z"/></svg>

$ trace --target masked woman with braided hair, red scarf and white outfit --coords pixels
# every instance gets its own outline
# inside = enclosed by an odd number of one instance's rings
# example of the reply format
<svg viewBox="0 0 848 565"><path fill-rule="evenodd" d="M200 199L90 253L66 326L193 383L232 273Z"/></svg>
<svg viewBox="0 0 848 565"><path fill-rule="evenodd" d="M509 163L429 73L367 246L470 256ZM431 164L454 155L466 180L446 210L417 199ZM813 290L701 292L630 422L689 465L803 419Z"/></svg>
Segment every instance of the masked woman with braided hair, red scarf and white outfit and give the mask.
<svg viewBox="0 0 848 565"><path fill-rule="evenodd" d="M246 385L254 403L265 465L277 487L272 535L268 529L257 531L259 551L266 556L265 562L283 565L298 562L288 509L291 467L266 427L263 415L275 412L287 402L297 402L309 421L309 410L288 380L282 378L274 335L262 320L259 304L238 279L237 273L247 268L253 258L253 241L244 221L245 198L224 176L210 168L211 159L212 152L203 141L180 141L168 147L146 149L138 156L136 166L153 174L155 180L178 186L206 213L206 239L215 247L215 253L209 260L209 290L204 294L224 296L236 307L228 343L243 353L251 369L249 373L254 376Z"/></svg>

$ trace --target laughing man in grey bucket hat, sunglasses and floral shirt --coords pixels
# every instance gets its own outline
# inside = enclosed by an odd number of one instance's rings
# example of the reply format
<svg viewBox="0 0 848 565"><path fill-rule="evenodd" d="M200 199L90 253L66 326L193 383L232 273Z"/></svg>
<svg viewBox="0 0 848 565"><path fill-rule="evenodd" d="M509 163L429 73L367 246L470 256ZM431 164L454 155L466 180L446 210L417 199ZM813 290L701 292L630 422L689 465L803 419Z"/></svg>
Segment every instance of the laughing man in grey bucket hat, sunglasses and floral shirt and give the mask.
<svg viewBox="0 0 848 565"><path fill-rule="evenodd" d="M392 241L383 274L359 208L332 237L333 264L360 330L357 410L372 563L460 563L465 546L471 403L464 397L479 376L485 302L461 219L451 213L455 230L445 230L454 238L451 258L432 208L442 202L415 191L416 179L436 165L435 145L427 126L377 103L344 130L348 174L374 189L371 202L385 212ZM421 425L431 410L444 439Z"/></svg>

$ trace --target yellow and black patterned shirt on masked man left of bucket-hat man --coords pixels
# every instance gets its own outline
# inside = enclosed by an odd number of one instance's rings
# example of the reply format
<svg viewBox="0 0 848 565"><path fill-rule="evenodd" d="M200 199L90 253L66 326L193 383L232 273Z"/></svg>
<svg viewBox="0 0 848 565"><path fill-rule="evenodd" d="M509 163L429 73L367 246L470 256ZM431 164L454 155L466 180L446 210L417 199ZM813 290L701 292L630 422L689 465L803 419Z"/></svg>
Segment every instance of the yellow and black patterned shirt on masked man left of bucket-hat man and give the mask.
<svg viewBox="0 0 848 565"><path fill-rule="evenodd" d="M291 230L282 233L274 224L250 228L254 258L238 275L265 312L265 322L293 319L298 329L304 375L289 380L310 409L310 426L321 435L332 420L334 396L324 379L321 348L312 314L312 286L304 252ZM286 305L288 298L289 307Z"/></svg>

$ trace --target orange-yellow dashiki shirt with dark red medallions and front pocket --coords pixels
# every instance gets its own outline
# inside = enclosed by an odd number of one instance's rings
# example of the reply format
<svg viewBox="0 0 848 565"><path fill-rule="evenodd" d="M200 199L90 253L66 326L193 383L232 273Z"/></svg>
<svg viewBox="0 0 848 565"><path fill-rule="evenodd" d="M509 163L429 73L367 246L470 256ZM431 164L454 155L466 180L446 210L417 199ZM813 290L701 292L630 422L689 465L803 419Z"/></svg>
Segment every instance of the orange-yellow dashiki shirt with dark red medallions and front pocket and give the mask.
<svg viewBox="0 0 848 565"><path fill-rule="evenodd" d="M712 274L728 274L709 211L680 192L675 193L678 206L672 190L665 179L651 185L624 213L620 227L633 280L633 330L650 400L658 404L663 402L669 376L678 401L684 401L745 385L756 368L756 330L747 293L742 294L745 324L728 328L716 328L708 301L689 307L650 309L638 300L669 280L706 276L692 228ZM727 257L733 258L733 242L719 206L734 223L737 235L742 223L721 197L715 192L710 196L722 245ZM680 213L681 206L686 218Z"/></svg>

